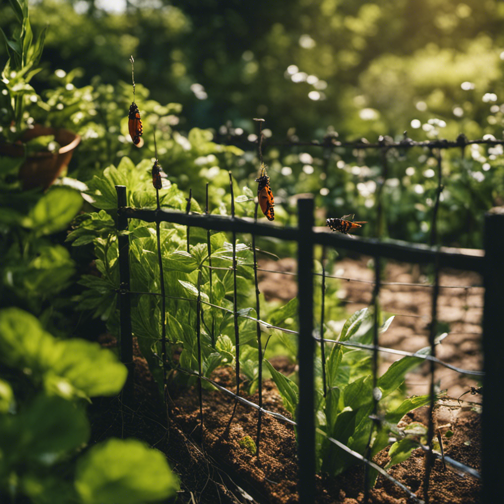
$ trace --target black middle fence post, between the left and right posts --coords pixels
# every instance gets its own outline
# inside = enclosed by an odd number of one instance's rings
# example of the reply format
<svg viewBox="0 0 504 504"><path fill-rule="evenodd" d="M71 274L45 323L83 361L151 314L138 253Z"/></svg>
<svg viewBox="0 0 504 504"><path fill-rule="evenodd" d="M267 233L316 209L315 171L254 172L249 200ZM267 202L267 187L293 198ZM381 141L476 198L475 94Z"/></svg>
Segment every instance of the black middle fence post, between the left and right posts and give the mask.
<svg viewBox="0 0 504 504"><path fill-rule="evenodd" d="M297 201L299 238L297 282L299 314L299 405L297 443L299 458L299 502L315 502L315 418L313 356L313 199Z"/></svg>

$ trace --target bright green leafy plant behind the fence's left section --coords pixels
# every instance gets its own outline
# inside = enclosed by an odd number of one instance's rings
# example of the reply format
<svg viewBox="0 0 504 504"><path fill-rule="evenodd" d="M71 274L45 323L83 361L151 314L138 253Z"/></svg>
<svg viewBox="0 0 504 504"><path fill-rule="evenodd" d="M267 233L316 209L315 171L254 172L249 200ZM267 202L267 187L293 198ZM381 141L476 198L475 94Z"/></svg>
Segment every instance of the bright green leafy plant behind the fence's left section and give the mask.
<svg viewBox="0 0 504 504"><path fill-rule="evenodd" d="M117 207L114 184L127 186L129 205L155 207L156 196L152 188L150 168L150 161L142 161L134 166L130 159L123 158L117 168L110 166L101 176L95 175L88 182L88 193L94 200L93 205L102 210L80 215L75 221L75 229L67 238L74 246L93 246L95 266L99 272L99 276L86 275L81 279L80 284L85 289L76 298L78 308L93 310L94 316L106 321L108 330L116 336L116 293L119 287L117 231L105 210ZM163 190L160 191L160 204L163 208L184 210L186 200L176 184L165 181ZM197 201L192 201L192 210L201 212ZM235 359L231 301L234 289L232 270L229 268L232 264L232 245L226 242L224 233L211 234L212 266L220 269L213 270L210 289L206 232L191 228L188 250L186 233L186 227L177 224L163 223L160 228L165 291L169 296L166 298L166 336L172 346L180 348L178 364L186 370L196 371L198 361L195 328L198 314L195 308L198 293L201 293L204 301L222 306L224 310L204 303L202 308L202 366L203 374L209 376L217 366L232 365ZM155 225L132 219L128 235L132 291L159 293ZM252 260L248 245L237 243L236 257L238 296L245 301L253 278L251 268L247 266ZM156 357L161 355L161 300L159 296L136 294L132 305L133 333L154 376L162 384L161 368ZM251 308L239 312L251 317L255 313ZM254 321L240 318L239 333L241 348L245 351L247 344L257 338ZM171 366L176 367L177 363L172 362ZM196 379L194 376L178 374L177 380L189 385Z"/></svg>

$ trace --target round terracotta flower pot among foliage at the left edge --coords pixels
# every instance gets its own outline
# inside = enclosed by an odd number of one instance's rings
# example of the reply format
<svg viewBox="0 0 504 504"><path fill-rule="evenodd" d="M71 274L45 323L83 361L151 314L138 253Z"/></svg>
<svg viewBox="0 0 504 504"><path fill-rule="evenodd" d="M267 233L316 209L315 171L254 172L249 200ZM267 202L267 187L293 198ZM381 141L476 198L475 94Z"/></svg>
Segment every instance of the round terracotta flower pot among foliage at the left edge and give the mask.
<svg viewBox="0 0 504 504"><path fill-rule="evenodd" d="M27 142L36 137L54 135L54 140L61 146L57 152L36 152L30 154L19 169L19 178L23 189L42 187L44 190L51 185L61 171L68 166L75 148L81 137L68 130L46 128L35 125L27 130L21 140ZM24 157L24 147L19 144L0 144L0 155Z"/></svg>

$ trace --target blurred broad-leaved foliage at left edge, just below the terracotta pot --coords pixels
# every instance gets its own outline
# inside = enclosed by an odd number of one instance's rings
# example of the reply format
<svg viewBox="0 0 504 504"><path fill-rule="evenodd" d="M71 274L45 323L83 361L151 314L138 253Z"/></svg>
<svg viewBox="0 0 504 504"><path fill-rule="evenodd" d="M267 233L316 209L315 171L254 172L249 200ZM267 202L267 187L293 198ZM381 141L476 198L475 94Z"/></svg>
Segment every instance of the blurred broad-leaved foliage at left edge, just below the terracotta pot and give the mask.
<svg viewBox="0 0 504 504"><path fill-rule="evenodd" d="M44 194L5 189L0 204L2 305L29 307L39 314L75 274L69 251L52 235L68 226L82 197L69 187L54 186Z"/></svg>

